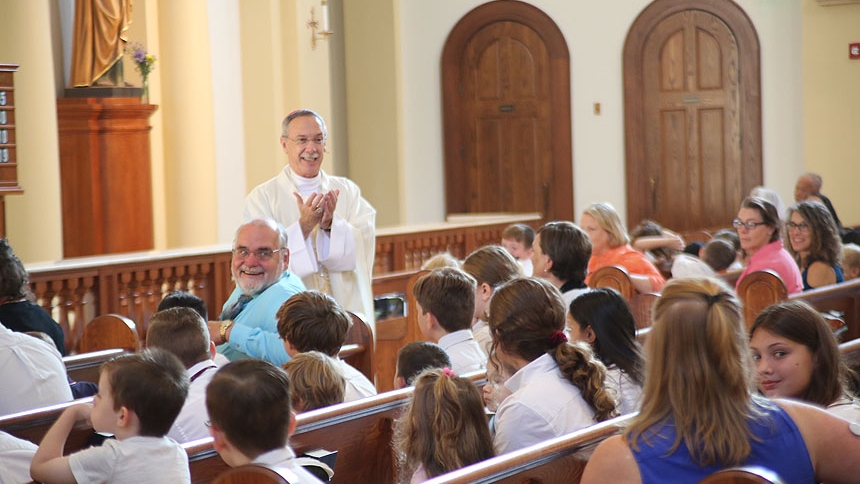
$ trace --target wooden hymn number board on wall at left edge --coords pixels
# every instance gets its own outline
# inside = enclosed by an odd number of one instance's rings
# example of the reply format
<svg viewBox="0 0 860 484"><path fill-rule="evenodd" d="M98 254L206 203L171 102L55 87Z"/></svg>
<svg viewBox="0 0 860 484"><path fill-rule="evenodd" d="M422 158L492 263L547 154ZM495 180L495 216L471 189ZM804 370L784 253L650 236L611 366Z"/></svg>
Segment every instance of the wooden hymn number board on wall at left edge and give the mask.
<svg viewBox="0 0 860 484"><path fill-rule="evenodd" d="M0 237L6 236L5 196L24 193L18 185L18 153L15 148L16 64L0 64Z"/></svg>

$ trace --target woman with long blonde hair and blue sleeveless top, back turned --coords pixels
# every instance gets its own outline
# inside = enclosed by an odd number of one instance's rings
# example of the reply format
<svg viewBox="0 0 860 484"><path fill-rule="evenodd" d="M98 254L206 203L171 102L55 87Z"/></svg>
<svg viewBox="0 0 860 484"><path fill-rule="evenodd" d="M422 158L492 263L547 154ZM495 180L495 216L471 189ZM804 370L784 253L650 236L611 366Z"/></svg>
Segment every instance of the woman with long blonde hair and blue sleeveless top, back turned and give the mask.
<svg viewBox="0 0 860 484"><path fill-rule="evenodd" d="M737 296L716 279L670 281L654 307L642 409L598 446L583 484L695 483L761 466L783 482L856 482L860 438L849 423L754 389Z"/></svg>

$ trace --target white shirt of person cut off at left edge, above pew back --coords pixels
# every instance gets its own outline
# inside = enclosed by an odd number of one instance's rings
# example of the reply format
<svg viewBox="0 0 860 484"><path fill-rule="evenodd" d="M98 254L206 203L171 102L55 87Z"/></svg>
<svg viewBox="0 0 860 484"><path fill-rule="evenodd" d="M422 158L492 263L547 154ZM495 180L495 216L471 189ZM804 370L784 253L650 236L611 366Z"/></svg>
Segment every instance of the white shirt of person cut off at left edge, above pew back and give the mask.
<svg viewBox="0 0 860 484"><path fill-rule="evenodd" d="M63 357L53 345L0 324L0 415L72 400Z"/></svg>

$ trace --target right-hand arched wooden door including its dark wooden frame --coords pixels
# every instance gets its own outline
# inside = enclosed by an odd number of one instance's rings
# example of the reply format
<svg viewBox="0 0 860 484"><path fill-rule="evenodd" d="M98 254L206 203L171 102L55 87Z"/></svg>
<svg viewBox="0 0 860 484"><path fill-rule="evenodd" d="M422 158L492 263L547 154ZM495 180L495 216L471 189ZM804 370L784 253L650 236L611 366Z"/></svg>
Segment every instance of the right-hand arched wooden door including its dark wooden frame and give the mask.
<svg viewBox="0 0 860 484"><path fill-rule="evenodd" d="M657 0L624 46L628 225L727 227L762 182L759 44L731 0Z"/></svg>

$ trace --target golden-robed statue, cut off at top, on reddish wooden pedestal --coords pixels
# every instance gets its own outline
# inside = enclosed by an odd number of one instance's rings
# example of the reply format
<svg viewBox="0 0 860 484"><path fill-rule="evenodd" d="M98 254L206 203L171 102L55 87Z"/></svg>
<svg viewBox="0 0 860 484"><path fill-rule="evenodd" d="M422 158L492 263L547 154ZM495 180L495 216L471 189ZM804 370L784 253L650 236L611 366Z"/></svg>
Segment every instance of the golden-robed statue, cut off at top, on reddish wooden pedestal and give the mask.
<svg viewBox="0 0 860 484"><path fill-rule="evenodd" d="M75 0L72 87L122 86L131 0Z"/></svg>

